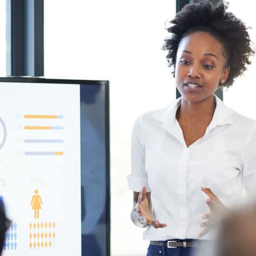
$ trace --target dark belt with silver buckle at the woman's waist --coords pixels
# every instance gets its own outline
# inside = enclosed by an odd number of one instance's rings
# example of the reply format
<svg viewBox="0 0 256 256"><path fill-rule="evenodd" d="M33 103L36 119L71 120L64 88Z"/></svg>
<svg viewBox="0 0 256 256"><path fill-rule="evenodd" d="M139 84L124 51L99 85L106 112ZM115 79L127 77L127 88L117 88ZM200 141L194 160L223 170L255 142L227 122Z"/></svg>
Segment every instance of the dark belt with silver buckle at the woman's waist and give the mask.
<svg viewBox="0 0 256 256"><path fill-rule="evenodd" d="M166 242L160 242L160 241L150 241L150 244L152 245L160 245L163 246L165 244L165 246L167 248L177 248L177 247L194 247L194 248L211 248L211 241L207 241L207 240L200 240L200 241L181 241L181 242L177 242L175 240L170 240L170 241L166 241Z"/></svg>

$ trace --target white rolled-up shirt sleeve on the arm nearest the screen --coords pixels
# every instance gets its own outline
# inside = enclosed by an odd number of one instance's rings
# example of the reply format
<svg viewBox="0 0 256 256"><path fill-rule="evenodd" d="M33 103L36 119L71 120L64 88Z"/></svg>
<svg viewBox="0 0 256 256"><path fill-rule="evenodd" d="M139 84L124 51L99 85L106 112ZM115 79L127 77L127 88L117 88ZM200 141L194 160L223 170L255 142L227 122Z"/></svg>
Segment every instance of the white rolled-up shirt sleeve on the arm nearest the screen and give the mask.
<svg viewBox="0 0 256 256"><path fill-rule="evenodd" d="M145 169L145 132L143 130L143 116L136 119L131 135L131 174L128 175L128 185L132 191L139 192L148 185Z"/></svg>

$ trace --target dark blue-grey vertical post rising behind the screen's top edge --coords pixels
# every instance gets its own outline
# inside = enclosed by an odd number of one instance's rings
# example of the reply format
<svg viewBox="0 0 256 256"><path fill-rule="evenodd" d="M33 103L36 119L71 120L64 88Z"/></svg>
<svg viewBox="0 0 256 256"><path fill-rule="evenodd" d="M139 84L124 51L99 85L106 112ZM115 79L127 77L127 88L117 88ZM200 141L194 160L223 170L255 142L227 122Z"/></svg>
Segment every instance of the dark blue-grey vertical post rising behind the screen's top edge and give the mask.
<svg viewBox="0 0 256 256"><path fill-rule="evenodd" d="M43 76L43 0L6 0L7 75Z"/></svg>

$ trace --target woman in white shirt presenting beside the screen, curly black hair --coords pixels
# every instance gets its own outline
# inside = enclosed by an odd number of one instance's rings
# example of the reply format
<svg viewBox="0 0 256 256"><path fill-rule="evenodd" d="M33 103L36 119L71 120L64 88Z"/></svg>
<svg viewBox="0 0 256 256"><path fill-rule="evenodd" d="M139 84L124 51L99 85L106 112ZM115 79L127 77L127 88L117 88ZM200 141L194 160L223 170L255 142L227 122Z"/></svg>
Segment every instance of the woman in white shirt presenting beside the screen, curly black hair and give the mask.
<svg viewBox="0 0 256 256"><path fill-rule="evenodd" d="M148 256L207 251L220 213L241 201L243 188L256 188L256 122L214 96L254 53L245 25L226 8L201 1L176 14L164 49L182 97L134 125L131 219L147 227Z"/></svg>

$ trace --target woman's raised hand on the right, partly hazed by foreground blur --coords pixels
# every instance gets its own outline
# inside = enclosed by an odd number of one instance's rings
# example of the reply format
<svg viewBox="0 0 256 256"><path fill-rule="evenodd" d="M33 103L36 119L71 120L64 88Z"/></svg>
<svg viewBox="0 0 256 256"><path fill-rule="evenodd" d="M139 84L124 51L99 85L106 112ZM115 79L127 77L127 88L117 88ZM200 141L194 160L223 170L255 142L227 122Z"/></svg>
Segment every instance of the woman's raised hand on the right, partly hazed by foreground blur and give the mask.
<svg viewBox="0 0 256 256"><path fill-rule="evenodd" d="M209 197L206 199L206 204L210 208L210 213L203 215L203 219L207 219L207 221L202 222L200 224L200 226L205 228L198 235L198 239L202 238L203 235L205 235L209 230L215 227L216 221L219 219L220 215L227 211L227 208L219 200L219 198L211 191L210 188L201 187L201 190Z"/></svg>

